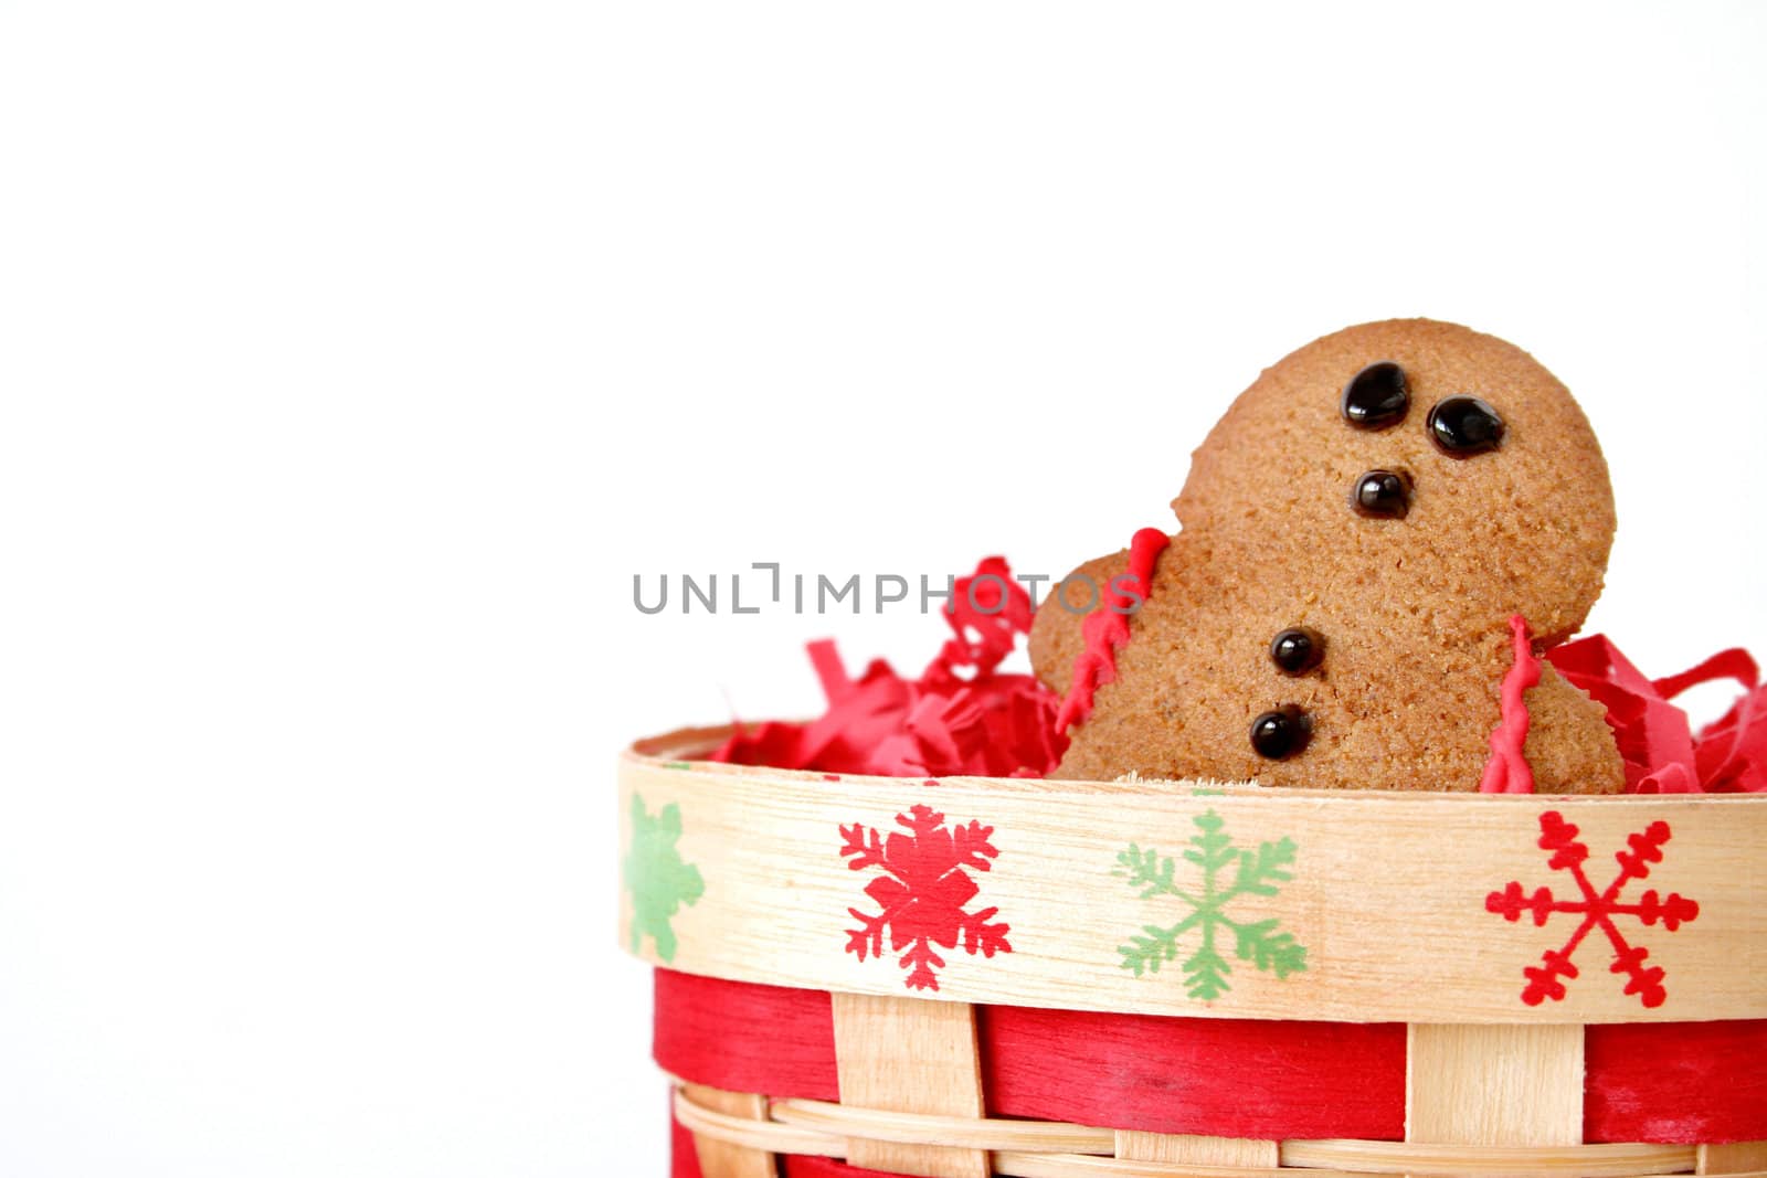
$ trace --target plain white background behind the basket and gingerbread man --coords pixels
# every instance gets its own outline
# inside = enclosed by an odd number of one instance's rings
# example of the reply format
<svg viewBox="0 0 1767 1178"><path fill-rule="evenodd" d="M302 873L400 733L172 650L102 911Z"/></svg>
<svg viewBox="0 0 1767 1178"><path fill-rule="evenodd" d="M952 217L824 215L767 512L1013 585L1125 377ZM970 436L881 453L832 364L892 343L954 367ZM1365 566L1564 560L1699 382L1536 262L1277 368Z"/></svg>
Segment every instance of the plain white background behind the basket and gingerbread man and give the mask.
<svg viewBox="0 0 1767 1178"><path fill-rule="evenodd" d="M0 7L0 1173L663 1173L617 747L940 623L633 574L1060 574L1346 323L1767 653L1767 7Z"/></svg>

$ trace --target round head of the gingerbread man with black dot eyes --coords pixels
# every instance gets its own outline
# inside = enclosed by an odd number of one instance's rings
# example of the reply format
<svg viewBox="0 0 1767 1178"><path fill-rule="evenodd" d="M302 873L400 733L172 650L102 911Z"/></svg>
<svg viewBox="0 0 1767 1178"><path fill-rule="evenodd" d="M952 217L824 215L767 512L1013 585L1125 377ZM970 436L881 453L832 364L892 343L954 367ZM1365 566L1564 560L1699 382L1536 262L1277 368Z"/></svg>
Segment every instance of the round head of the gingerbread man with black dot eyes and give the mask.
<svg viewBox="0 0 1767 1178"><path fill-rule="evenodd" d="M1601 592L1613 495L1566 387L1514 344L1391 320L1267 369L1196 450L1173 509L1212 544L1278 553L1331 583L1488 600L1543 641ZM1467 618L1444 611L1442 627Z"/></svg>

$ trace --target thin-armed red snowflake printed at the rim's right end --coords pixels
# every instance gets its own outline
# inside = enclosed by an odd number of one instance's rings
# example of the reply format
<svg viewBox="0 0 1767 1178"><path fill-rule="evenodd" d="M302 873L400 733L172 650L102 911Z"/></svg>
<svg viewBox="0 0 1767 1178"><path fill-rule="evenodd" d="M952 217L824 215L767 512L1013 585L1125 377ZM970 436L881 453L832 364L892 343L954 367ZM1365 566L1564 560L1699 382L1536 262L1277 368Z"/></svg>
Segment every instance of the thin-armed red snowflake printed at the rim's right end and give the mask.
<svg viewBox="0 0 1767 1178"><path fill-rule="evenodd" d="M1576 881L1578 899L1557 899L1551 888L1536 888L1532 895L1523 895L1521 885L1514 880L1502 892L1491 892L1484 897L1486 911L1495 911L1505 920L1520 920L1521 913L1527 911L1534 915L1536 927L1544 927L1555 911L1581 917L1576 931L1571 933L1564 947L1548 948L1541 957L1541 964L1521 970L1521 975L1528 980L1521 989L1521 1001L1537 1007L1548 998L1553 1001L1562 1000L1564 982L1560 978L1576 977L1576 966L1571 963L1571 957L1576 955L1576 947L1583 943L1583 938L1590 931L1601 929L1613 945L1613 964L1608 968L1613 973L1626 975L1624 993L1638 994L1638 1000L1645 1007L1661 1007L1668 998L1668 991L1663 989L1663 968L1645 966L1645 957L1650 955L1650 950L1627 941L1613 918L1634 917L1645 925L1654 925L1661 920L1665 931L1673 933L1700 915L1700 906L1679 892L1657 895L1656 888L1650 888L1638 897L1636 904L1620 902L1620 892L1626 890L1627 883L1649 878L1650 864L1663 862L1663 844L1670 839L1668 823L1654 821L1642 834L1626 835L1626 850L1613 853L1613 858L1620 864L1620 874L1613 878L1613 883L1604 892L1597 892L1596 885L1589 881L1589 874L1583 871L1583 864L1589 860L1589 846L1580 842L1576 835L1576 827L1567 823L1558 811L1541 814L1539 844L1543 851L1551 851L1546 865L1553 871L1571 874L1571 880Z"/></svg>

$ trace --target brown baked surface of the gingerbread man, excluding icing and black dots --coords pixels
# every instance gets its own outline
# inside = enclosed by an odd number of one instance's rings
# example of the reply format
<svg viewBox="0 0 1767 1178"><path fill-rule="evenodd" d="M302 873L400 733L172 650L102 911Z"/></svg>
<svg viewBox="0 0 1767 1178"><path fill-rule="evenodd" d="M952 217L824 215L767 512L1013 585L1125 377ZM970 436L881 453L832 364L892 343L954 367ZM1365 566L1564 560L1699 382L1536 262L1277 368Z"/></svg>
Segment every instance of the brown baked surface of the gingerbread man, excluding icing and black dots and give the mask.
<svg viewBox="0 0 1767 1178"><path fill-rule="evenodd" d="M1359 427L1345 389L1382 362L1403 373L1407 403L1392 419L1389 397L1391 420ZM1364 383L1378 392L1378 380ZM1433 440L1431 410L1447 397L1497 412L1495 449ZM1359 510L1355 489L1373 472L1399 482ZM1513 662L1511 615L1536 650L1569 638L1613 542L1606 461L1566 387L1514 344L1431 320L1352 327L1267 369L1194 452L1172 505L1180 532L1057 777L1477 789ZM1117 553L1076 574L1104 586L1126 565ZM1057 692L1083 650L1088 604L1083 581L1066 585L1066 606L1051 595L1030 634L1035 671ZM1323 639L1311 669L1272 659L1288 629ZM1539 793L1620 791L1601 705L1551 666L1525 699ZM1272 759L1251 729L1283 708L1304 745Z"/></svg>

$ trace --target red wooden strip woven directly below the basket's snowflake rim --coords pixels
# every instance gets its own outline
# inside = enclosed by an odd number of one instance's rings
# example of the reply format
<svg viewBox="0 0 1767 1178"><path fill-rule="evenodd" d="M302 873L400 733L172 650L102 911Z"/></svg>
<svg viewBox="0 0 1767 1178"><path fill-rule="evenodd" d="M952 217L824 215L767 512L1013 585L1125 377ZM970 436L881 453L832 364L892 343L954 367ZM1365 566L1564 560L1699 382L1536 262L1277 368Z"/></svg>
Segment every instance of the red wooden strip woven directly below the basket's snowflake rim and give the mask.
<svg viewBox="0 0 1767 1178"><path fill-rule="evenodd" d="M1258 1139L1405 1136L1399 1024L977 1010L997 1116ZM839 1099L823 991L657 970L656 1058L714 1088ZM1587 1072L1585 1141L1767 1139L1767 1021L1590 1026Z"/></svg>

